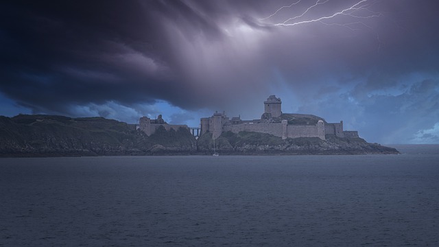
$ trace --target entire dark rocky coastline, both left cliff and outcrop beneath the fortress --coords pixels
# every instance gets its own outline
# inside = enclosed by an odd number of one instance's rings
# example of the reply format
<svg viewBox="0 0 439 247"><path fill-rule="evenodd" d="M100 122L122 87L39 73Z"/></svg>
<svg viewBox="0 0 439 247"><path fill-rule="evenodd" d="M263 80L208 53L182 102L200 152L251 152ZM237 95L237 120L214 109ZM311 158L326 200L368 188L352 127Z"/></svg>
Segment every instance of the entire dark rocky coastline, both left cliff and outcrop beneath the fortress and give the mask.
<svg viewBox="0 0 439 247"><path fill-rule="evenodd" d="M211 155L212 134L198 140L181 128L158 128L149 137L135 126L103 117L53 115L0 116L0 156ZM219 154L399 154L398 150L361 138L327 134L281 139L258 132L224 132L215 139Z"/></svg>

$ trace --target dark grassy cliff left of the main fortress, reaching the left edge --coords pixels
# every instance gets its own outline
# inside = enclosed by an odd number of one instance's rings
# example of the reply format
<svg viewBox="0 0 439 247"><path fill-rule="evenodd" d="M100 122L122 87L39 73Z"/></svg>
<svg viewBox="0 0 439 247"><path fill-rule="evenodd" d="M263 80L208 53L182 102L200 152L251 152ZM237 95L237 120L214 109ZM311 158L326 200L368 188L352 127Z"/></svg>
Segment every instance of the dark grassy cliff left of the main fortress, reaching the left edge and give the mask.
<svg viewBox="0 0 439 247"><path fill-rule="evenodd" d="M0 117L0 156L147 155L156 146L160 152L192 152L195 137L184 129L165 128L147 137L132 125L104 117Z"/></svg>

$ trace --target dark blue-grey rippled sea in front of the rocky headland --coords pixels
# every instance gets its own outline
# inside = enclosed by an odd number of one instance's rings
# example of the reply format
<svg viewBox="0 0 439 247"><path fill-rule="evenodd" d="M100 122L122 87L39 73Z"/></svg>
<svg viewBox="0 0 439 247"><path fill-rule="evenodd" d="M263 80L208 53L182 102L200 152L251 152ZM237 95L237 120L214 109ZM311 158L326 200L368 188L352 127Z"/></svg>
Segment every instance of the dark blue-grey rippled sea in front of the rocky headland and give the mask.
<svg viewBox="0 0 439 247"><path fill-rule="evenodd" d="M439 145L401 155L0 159L0 246L439 246Z"/></svg>

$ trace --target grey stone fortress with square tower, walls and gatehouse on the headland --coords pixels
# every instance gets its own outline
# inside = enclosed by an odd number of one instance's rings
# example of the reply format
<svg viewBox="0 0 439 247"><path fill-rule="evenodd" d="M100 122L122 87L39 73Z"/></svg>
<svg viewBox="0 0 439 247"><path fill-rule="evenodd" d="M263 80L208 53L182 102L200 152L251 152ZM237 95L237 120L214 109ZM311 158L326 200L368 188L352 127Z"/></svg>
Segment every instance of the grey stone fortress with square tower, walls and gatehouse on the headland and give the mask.
<svg viewBox="0 0 439 247"><path fill-rule="evenodd" d="M261 119L241 120L241 117L229 119L225 112L215 112L212 117L200 119L200 132L198 128L189 128L187 125L167 124L162 115L158 115L157 119L141 117L137 128L148 136L154 134L160 126L163 126L167 131L171 129L177 131L179 128L184 128L188 131L196 130L196 134L192 132L196 136L211 132L213 139L217 139L223 132L228 131L233 133L241 131L261 132L282 139L318 137L324 140L326 134L334 134L336 137L358 137L357 131L343 130L343 121L328 123L322 117L315 115L282 113L282 101L275 95L270 95L263 104L264 113Z"/></svg>

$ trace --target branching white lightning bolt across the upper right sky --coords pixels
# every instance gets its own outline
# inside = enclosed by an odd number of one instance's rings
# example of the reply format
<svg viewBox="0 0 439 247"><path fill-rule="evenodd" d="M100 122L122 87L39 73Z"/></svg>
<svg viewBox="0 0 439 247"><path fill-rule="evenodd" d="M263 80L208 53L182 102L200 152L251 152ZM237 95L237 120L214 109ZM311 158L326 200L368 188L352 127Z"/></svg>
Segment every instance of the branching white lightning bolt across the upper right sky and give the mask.
<svg viewBox="0 0 439 247"><path fill-rule="evenodd" d="M294 5L300 3L300 1L301 0L299 0L295 3L292 3L291 5L282 6L281 8L278 8L278 10L276 10L273 14L270 14L270 16L265 17L263 19L259 19L259 21L264 21L264 20L270 19L273 16L276 16L276 14L278 14L278 12L280 12L284 8L292 8ZM299 14L297 16L293 16L289 19L286 19L285 21L283 21L281 23L274 23L272 25L274 25L274 26L294 26L294 25L301 25L301 24L306 24L306 23L322 23L325 25L341 25L344 27L348 27L351 30L354 30L352 27L349 27L349 25L360 24L360 25L364 25L366 27L369 27L369 26L362 23L361 21L356 21L356 22L351 22L351 23L325 23L324 21L327 21L329 19L334 19L336 16L350 16L353 19L369 19L372 17L381 16L381 13L373 12L372 10L369 9L370 6L375 2L368 3L369 0L361 0L361 1L358 1L357 3L355 3L354 5L351 5L351 7L344 8L342 10L339 10L337 12L333 12L333 13L325 15L325 16L319 16L318 18L315 18L315 19L307 19L307 20L303 20L303 21L291 22L291 21L294 21L296 19L302 18L303 16L305 16L306 14L311 12L314 8L316 8L318 5L323 5L324 3L328 3L329 1L330 0L318 0L318 1L316 1L316 3L309 6L304 12L302 12L302 14ZM364 14L361 15L359 12L362 12Z"/></svg>

